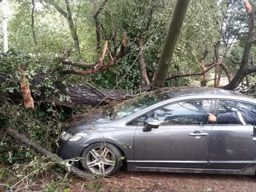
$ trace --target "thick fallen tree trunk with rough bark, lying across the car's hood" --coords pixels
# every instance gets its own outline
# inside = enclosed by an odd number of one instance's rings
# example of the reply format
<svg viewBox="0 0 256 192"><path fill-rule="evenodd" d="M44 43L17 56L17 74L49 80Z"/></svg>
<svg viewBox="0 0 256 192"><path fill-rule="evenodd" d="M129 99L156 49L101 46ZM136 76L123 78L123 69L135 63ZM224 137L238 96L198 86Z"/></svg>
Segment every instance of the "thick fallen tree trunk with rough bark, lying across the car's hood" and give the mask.
<svg viewBox="0 0 256 192"><path fill-rule="evenodd" d="M58 92L54 93L52 90L52 94L48 97L45 96L45 88L37 89L36 85L41 84L45 77L51 77L49 74L39 73L33 76L33 80L30 82L30 90L34 90L36 94L31 93L34 101L37 103L40 102L51 102L57 105L75 108L75 109L87 109L91 107L95 107L98 105L105 97L102 104L106 102L111 102L114 100L120 100L127 95L126 90L120 89L96 89L94 87L89 87L86 85L63 85L57 81L54 81L56 85L56 89ZM4 80L4 78L2 79ZM1 75L0 75L0 83L1 83ZM68 90L68 91L67 91ZM71 102L60 100L60 94L68 95L70 97ZM0 95L1 97L2 95ZM23 96L21 93L14 91L13 93L9 92L5 97L8 97L9 100L12 100L14 103L23 102Z"/></svg>

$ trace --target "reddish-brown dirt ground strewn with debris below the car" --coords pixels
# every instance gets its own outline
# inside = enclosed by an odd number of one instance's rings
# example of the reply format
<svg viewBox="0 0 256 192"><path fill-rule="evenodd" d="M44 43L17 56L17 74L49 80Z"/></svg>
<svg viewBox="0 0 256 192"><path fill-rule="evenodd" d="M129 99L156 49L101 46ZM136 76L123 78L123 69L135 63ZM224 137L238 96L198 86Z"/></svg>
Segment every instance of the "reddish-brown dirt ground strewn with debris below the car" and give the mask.
<svg viewBox="0 0 256 192"><path fill-rule="evenodd" d="M121 171L114 178L101 178L96 181L75 181L70 192L100 191L95 188L101 183L102 192L255 192L255 176L184 174ZM82 187L84 186L84 187Z"/></svg>

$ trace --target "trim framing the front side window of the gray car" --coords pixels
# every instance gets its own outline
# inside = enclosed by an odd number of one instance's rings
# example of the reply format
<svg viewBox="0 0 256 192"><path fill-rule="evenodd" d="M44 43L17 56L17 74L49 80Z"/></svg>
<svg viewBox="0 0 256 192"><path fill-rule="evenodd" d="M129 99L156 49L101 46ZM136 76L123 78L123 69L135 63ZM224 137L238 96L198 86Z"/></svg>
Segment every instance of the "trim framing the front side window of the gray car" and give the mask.
<svg viewBox="0 0 256 192"><path fill-rule="evenodd" d="M180 102L186 102L186 101L203 101L203 100L211 100L211 107L210 107L210 113L213 112L216 108L216 99L215 98L200 98L200 99L187 99L187 100L179 100L179 101L175 101L173 103L168 103L168 104L165 104L165 105L162 105L158 108L155 108L153 110L151 110L149 112L149 115L148 115L148 118L151 117L152 115L152 112L158 110L158 109L161 109L163 107L166 107L168 105L172 105L172 104L175 104L175 103L180 103ZM138 125L139 126L139 125ZM205 125L159 125L159 126L212 126L212 122L209 122L209 120L207 121L207 124Z"/></svg>

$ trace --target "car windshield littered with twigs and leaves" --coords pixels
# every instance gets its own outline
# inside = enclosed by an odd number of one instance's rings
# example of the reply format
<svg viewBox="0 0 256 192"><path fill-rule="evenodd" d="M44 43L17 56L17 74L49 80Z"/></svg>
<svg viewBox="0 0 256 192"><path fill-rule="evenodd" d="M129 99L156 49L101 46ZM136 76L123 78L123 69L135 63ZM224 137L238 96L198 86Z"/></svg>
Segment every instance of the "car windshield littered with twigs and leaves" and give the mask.
<svg viewBox="0 0 256 192"><path fill-rule="evenodd" d="M116 111L115 118L119 119L127 115L133 114L150 105L167 100L168 98L170 97L165 94L165 91L163 89L147 92L140 96L135 96L128 99L121 105L121 108Z"/></svg>

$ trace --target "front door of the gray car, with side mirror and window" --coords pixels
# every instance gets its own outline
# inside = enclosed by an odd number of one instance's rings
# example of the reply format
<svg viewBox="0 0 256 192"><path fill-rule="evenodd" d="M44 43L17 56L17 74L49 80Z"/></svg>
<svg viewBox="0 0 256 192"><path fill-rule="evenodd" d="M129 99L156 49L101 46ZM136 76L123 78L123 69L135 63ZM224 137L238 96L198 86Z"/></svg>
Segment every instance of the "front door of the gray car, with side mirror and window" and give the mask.
<svg viewBox="0 0 256 192"><path fill-rule="evenodd" d="M215 100L186 100L157 108L148 114L159 128L143 132L138 125L134 137L137 167L207 169L212 123L207 112ZM212 108L211 108L212 106Z"/></svg>

